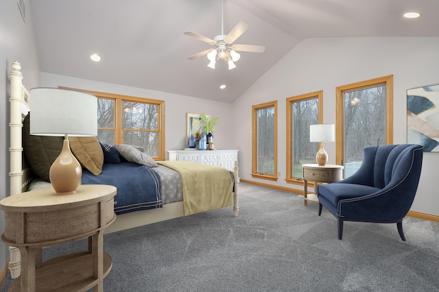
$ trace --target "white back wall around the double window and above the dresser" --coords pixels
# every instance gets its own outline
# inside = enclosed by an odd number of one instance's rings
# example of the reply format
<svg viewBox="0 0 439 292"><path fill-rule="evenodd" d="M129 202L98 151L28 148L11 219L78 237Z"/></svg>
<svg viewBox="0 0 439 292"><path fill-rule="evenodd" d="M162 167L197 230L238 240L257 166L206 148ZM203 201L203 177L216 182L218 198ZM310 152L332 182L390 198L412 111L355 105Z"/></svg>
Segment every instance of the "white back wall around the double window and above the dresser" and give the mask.
<svg viewBox="0 0 439 292"><path fill-rule="evenodd" d="M215 126L213 142L217 149L230 149L233 121L230 116L232 104L188 97L185 95L175 95L160 91L147 90L110 84L105 82L95 82L80 78L56 75L51 73L41 73L41 86L58 87L66 86L93 90L104 93L114 93L119 95L129 95L134 97L145 97L149 99L160 99L165 101L165 149L180 150L186 145L186 113L210 114L211 117L219 117L219 123ZM166 154L167 157L167 154Z"/></svg>

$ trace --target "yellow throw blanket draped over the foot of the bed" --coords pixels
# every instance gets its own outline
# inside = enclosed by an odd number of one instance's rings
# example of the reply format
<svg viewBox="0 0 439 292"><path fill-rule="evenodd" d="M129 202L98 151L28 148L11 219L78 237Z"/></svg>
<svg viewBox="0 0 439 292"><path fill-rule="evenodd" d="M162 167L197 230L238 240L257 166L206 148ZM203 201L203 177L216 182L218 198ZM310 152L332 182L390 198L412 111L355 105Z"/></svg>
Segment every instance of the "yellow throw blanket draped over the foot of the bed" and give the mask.
<svg viewBox="0 0 439 292"><path fill-rule="evenodd" d="M232 206L232 178L224 167L177 160L157 163L180 173L185 216Z"/></svg>

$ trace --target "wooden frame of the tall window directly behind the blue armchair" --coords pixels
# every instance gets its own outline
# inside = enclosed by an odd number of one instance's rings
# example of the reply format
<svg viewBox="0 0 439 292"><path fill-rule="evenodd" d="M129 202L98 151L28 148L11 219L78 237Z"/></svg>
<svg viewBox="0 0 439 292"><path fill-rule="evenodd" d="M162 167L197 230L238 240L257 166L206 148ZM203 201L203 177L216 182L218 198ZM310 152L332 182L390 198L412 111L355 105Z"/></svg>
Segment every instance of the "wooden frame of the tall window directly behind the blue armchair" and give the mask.
<svg viewBox="0 0 439 292"><path fill-rule="evenodd" d="M344 92L380 85L385 85L385 143L387 145L393 143L393 75L338 86L335 94L335 162L337 165L344 165Z"/></svg>

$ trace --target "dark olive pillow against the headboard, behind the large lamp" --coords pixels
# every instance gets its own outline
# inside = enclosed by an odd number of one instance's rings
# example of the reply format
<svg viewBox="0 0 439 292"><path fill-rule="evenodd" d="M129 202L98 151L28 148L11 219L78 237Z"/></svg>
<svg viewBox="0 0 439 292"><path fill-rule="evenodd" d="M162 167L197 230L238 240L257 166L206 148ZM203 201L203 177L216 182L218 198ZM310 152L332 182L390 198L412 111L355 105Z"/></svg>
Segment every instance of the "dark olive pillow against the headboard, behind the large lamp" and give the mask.
<svg viewBox="0 0 439 292"><path fill-rule="evenodd" d="M29 134L29 117L23 121L23 151L30 167L42 180L50 182L49 170L61 153L64 137Z"/></svg>

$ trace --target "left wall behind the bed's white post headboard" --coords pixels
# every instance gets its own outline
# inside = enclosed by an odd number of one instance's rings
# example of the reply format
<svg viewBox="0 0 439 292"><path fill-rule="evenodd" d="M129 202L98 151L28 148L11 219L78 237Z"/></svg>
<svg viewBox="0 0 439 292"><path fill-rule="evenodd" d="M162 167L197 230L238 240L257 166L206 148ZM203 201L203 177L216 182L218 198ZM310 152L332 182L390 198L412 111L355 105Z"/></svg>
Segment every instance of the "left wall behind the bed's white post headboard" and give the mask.
<svg viewBox="0 0 439 292"><path fill-rule="evenodd" d="M23 65L23 84L27 88L38 86L39 63L36 57L32 10L29 1L26 5L26 22L23 21L18 5L14 0L0 1L0 199L9 195L10 131L8 74L13 61ZM0 212L0 234L4 232L4 214ZM0 270L9 258L7 246L0 242Z"/></svg>

